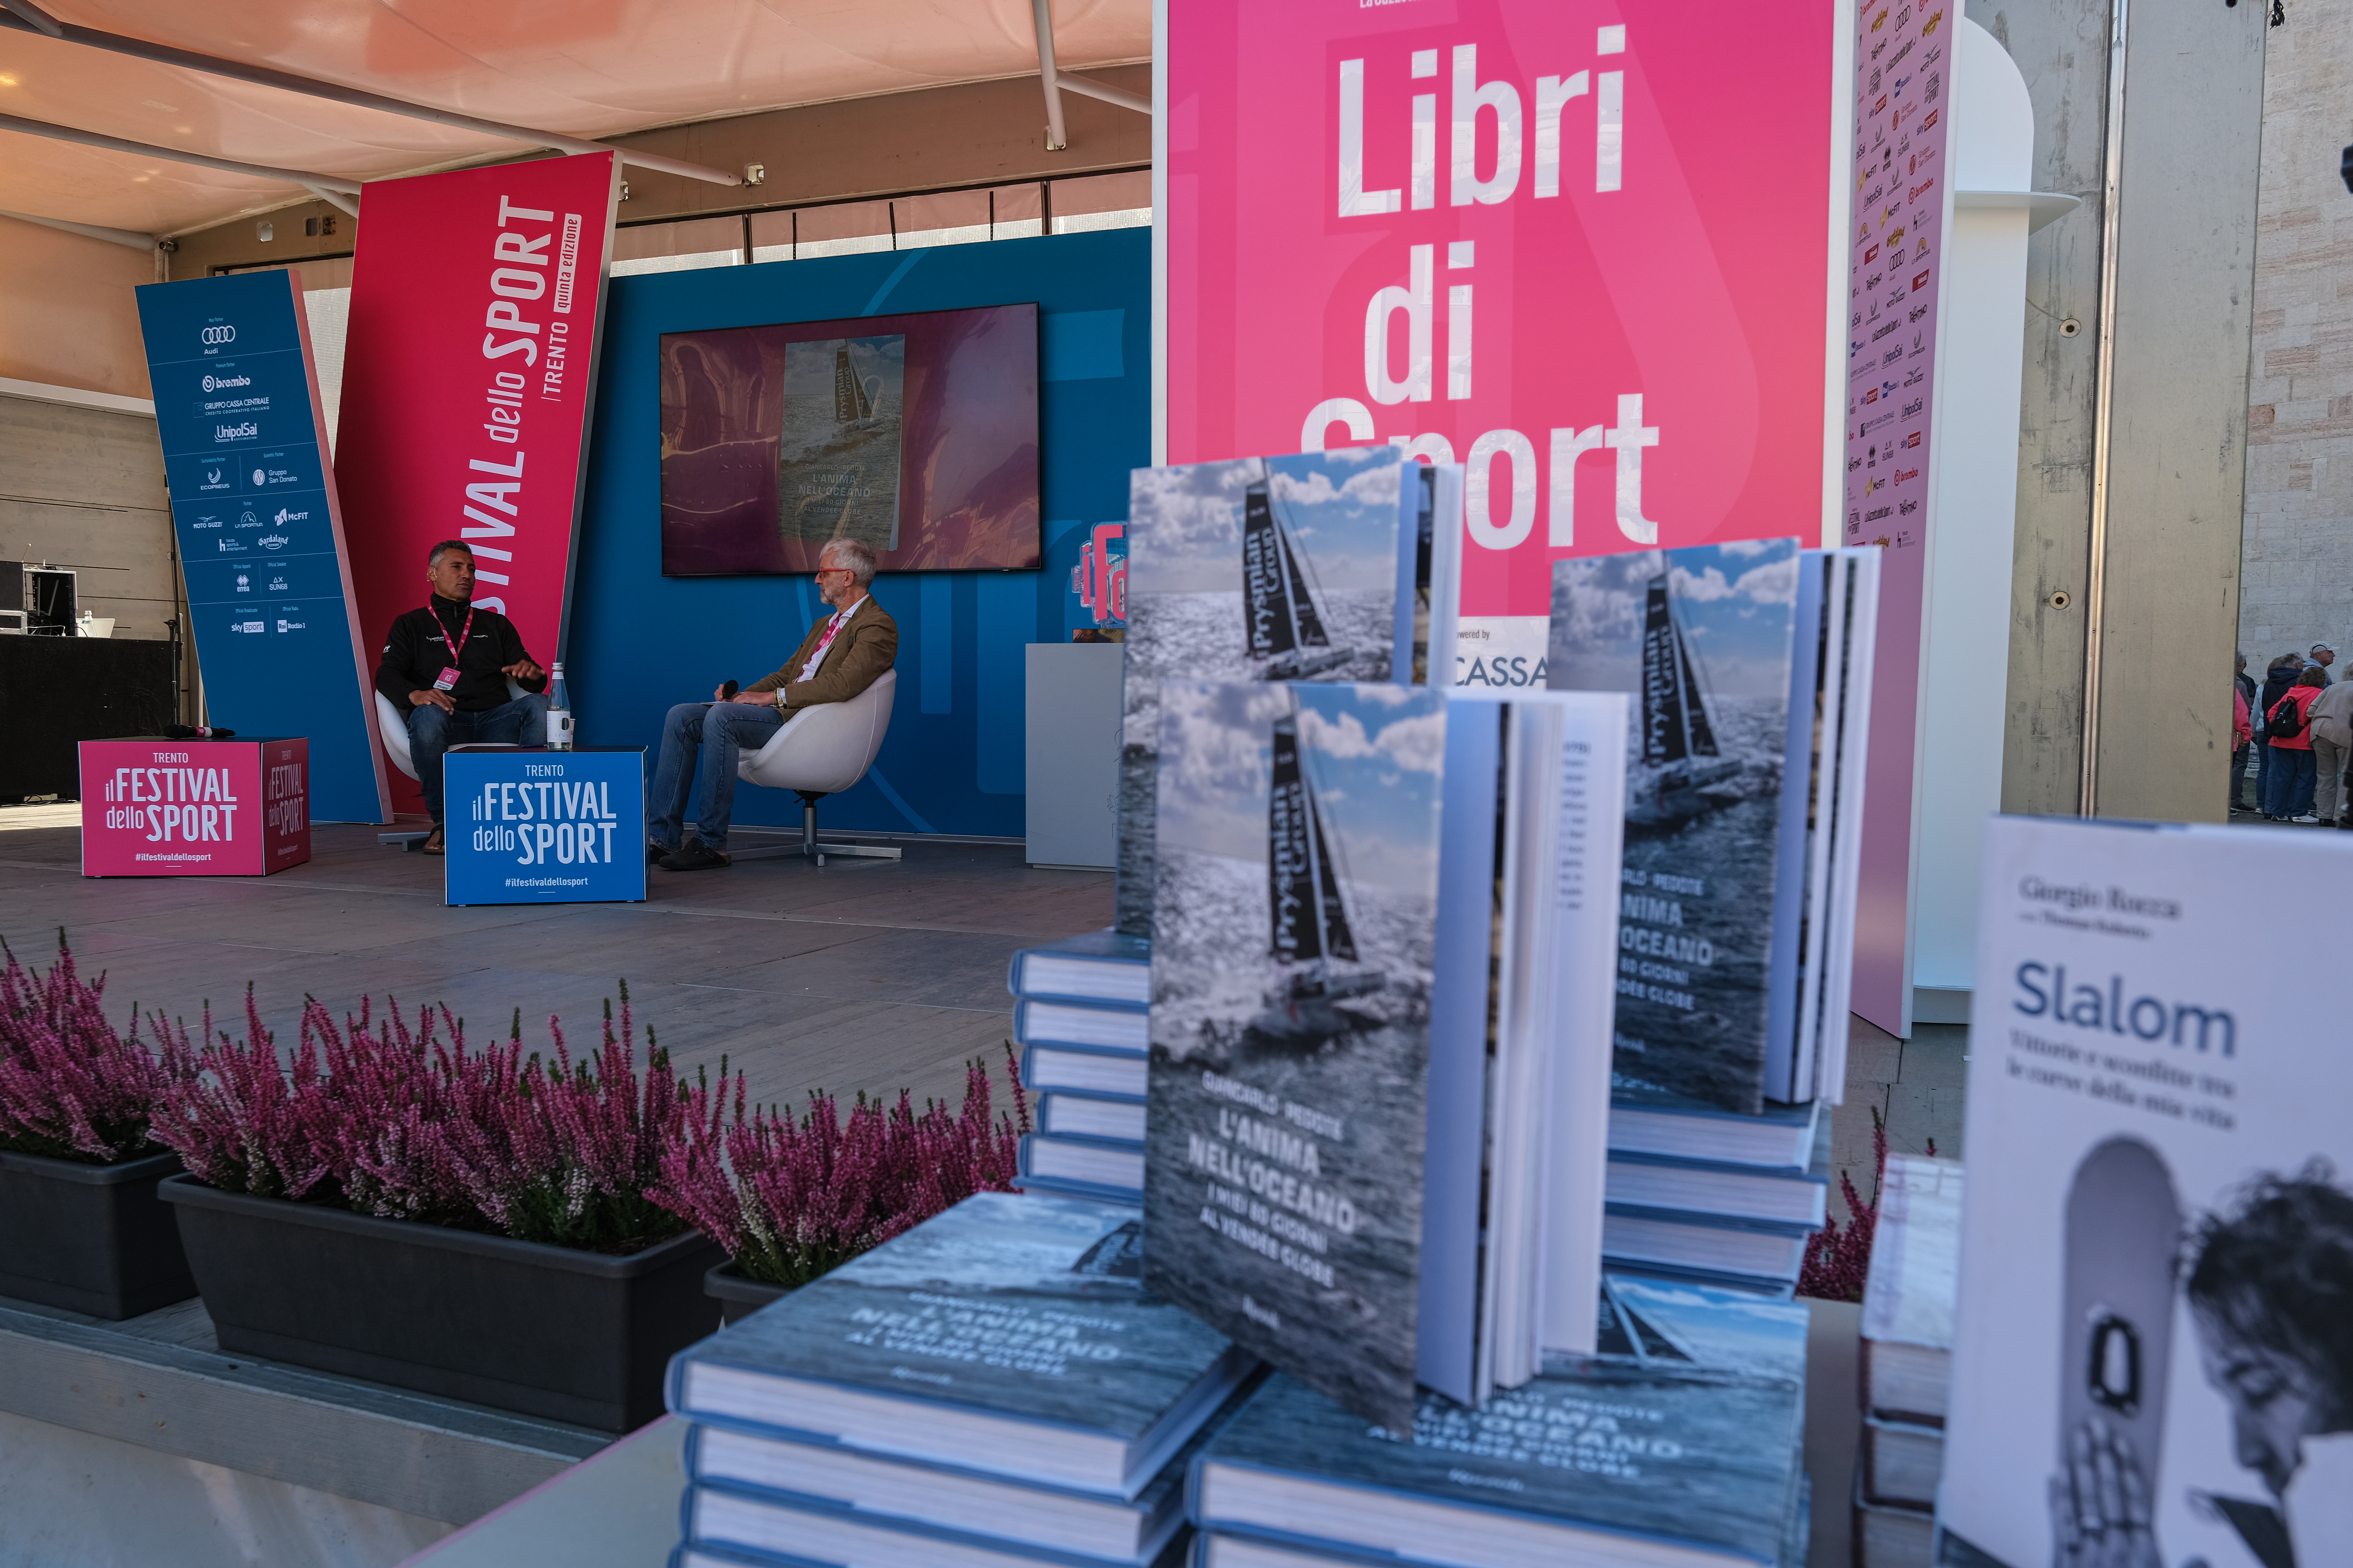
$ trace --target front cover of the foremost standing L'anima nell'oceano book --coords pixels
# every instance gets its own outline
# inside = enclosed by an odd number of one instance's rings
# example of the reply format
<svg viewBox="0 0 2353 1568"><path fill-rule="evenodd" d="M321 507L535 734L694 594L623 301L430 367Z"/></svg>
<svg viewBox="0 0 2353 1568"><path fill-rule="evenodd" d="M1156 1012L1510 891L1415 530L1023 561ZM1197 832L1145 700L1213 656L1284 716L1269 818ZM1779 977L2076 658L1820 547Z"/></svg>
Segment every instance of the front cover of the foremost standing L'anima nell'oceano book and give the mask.
<svg viewBox="0 0 2353 1568"><path fill-rule="evenodd" d="M1445 703L1426 686L1195 682L1158 703L1146 1281L1400 1429Z"/></svg>

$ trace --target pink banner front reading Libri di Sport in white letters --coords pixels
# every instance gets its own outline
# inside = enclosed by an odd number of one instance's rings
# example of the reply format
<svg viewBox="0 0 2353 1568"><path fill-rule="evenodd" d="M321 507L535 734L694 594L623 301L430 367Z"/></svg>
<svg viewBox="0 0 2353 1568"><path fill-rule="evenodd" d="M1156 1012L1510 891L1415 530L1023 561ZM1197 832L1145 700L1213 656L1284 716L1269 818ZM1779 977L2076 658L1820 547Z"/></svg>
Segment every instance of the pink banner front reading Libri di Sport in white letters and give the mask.
<svg viewBox="0 0 2353 1568"><path fill-rule="evenodd" d="M1553 559L1833 543L1845 14L1169 7L1167 461L1466 463L1466 682L1544 684Z"/></svg>

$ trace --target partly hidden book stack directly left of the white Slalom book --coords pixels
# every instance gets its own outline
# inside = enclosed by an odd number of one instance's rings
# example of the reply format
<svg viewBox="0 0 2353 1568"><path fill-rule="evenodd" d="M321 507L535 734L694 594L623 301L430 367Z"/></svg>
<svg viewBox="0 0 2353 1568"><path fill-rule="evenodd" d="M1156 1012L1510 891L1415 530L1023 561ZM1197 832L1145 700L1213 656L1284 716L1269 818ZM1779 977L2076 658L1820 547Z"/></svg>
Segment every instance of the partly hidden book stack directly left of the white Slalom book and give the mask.
<svg viewBox="0 0 2353 1568"><path fill-rule="evenodd" d="M1927 1568L1960 1295L1960 1164L1889 1154L1864 1286L1854 1561Z"/></svg>

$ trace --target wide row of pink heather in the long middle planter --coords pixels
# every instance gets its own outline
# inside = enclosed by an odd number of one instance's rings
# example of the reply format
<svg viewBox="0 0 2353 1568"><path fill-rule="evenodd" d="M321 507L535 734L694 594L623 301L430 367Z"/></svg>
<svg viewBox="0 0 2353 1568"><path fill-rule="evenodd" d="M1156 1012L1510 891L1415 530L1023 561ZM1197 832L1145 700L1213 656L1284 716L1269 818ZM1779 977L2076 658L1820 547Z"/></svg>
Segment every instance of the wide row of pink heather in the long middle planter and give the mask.
<svg viewBox="0 0 2353 1568"><path fill-rule="evenodd" d="M224 1192L332 1201L355 1213L480 1229L598 1253L631 1253L687 1229L652 1201L664 1150L685 1138L687 1084L647 1030L635 1065L628 985L614 1027L574 1060L548 1018L548 1056L506 1041L471 1048L447 1006L358 1018L306 999L292 1060L261 1027L252 990L245 1039L202 1044L158 1020L193 1070L172 1084L155 1138Z"/></svg>

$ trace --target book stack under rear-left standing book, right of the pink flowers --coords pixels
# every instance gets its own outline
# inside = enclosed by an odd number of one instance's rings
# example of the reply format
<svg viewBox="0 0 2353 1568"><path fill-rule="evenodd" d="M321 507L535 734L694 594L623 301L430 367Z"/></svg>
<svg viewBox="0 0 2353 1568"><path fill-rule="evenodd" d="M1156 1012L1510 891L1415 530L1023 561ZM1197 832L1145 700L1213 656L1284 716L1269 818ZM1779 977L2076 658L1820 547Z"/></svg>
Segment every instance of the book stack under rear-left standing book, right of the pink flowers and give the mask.
<svg viewBox="0 0 2353 1568"><path fill-rule="evenodd" d="M1038 1131L1021 1140L1026 1190L1144 1201L1151 959L1151 938L1113 929L1014 954L1005 987L1021 1084L1038 1095Z"/></svg>

